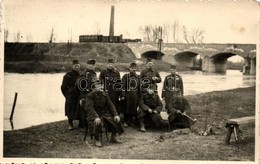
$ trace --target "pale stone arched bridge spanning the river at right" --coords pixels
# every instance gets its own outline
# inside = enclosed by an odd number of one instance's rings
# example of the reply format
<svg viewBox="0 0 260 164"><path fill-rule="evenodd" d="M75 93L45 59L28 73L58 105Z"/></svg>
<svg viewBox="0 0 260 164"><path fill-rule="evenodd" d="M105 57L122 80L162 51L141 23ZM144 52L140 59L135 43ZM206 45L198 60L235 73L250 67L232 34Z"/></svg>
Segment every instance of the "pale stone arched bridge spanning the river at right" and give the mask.
<svg viewBox="0 0 260 164"><path fill-rule="evenodd" d="M127 45L137 58L151 57L175 65L195 67L194 61L199 58L201 69L211 73L225 73L227 59L238 55L244 58L243 73L256 74L255 44L163 43L161 51L156 43L127 43Z"/></svg>

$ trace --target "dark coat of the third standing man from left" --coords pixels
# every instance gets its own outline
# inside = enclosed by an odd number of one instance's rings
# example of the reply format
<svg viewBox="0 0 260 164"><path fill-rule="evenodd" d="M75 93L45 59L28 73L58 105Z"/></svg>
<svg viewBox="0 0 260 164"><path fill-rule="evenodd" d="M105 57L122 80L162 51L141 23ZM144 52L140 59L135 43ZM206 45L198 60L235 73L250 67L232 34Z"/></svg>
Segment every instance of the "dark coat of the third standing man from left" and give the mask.
<svg viewBox="0 0 260 164"><path fill-rule="evenodd" d="M99 78L103 81L104 90L107 91L117 112L120 113L119 97L121 96L122 81L119 71L116 69L105 69L101 71Z"/></svg>

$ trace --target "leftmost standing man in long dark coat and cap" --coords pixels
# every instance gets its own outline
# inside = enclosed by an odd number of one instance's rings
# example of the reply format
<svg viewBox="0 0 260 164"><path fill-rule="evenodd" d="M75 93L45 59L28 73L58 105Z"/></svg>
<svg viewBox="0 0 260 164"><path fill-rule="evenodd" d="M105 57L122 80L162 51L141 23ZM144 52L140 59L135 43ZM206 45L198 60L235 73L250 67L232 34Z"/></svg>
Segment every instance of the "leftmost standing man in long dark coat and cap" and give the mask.
<svg viewBox="0 0 260 164"><path fill-rule="evenodd" d="M75 82L79 76L80 64L78 60L73 60L71 71L63 76L61 84L61 92L65 97L65 116L68 117L69 130L73 129L73 119L78 102L78 95L75 87Z"/></svg>

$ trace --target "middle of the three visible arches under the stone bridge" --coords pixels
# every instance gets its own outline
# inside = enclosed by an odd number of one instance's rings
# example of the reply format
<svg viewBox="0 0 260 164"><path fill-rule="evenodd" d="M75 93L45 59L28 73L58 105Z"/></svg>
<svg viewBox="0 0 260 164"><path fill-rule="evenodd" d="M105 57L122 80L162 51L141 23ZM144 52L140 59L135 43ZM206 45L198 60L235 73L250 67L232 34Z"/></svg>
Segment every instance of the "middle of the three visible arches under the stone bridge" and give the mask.
<svg viewBox="0 0 260 164"><path fill-rule="evenodd" d="M187 67L194 67L194 61L198 53L192 51L183 51L174 55L176 65L182 65Z"/></svg>

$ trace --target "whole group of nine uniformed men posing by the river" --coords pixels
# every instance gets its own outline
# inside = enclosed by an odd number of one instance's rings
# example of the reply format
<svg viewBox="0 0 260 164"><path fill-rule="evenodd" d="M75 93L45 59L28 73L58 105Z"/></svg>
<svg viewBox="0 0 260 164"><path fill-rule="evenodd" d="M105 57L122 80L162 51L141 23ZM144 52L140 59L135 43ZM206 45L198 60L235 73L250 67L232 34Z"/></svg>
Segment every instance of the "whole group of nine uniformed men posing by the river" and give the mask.
<svg viewBox="0 0 260 164"><path fill-rule="evenodd" d="M79 127L92 129L95 145L102 146L99 132L106 125L112 133L110 141L120 143L116 138L124 128L137 125L140 131L146 128L168 129L189 128L191 123L187 114L190 105L183 96L182 77L176 73L176 66L170 65L170 74L165 77L162 99L168 120L160 113L163 103L158 95L157 83L162 81L154 70L153 60L148 58L146 69L136 73L137 64L130 63L129 73L120 78L114 60L108 59L107 68L95 72L96 61L89 59L85 70L80 73L80 63L73 60L72 69L63 77L61 91L66 99L65 115L68 117L69 130L73 130L73 120L79 120ZM90 128L91 127L91 128Z"/></svg>

